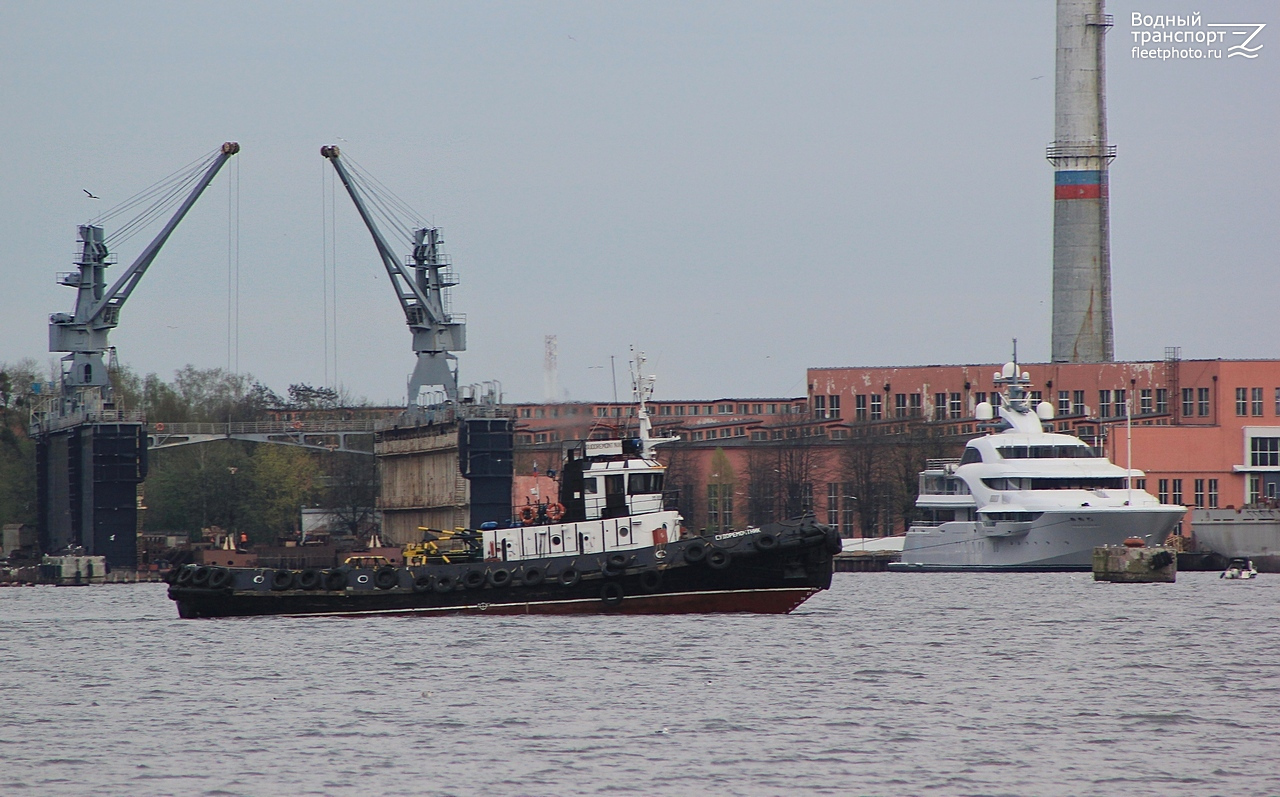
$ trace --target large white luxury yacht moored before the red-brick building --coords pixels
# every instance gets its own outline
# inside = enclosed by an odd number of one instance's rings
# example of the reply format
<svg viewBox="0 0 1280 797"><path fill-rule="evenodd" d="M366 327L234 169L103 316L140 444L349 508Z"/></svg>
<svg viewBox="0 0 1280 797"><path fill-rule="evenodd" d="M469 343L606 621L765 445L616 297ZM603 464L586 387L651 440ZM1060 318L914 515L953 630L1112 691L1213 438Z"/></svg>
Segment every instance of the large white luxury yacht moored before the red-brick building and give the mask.
<svg viewBox="0 0 1280 797"><path fill-rule="evenodd" d="M931 461L895 571L1088 571L1094 546L1138 537L1160 545L1185 514L1133 487L1140 471L1112 464L1079 438L1046 432L1053 407L1032 407L1030 379L1010 362L995 375L996 406L959 461Z"/></svg>

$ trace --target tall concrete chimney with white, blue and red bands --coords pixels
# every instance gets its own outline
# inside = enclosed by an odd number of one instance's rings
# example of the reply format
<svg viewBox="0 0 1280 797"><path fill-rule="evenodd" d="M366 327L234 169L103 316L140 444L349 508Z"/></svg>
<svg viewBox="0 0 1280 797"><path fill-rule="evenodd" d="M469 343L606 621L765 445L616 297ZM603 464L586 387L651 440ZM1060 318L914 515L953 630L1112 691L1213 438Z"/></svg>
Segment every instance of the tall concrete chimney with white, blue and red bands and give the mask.
<svg viewBox="0 0 1280 797"><path fill-rule="evenodd" d="M1103 0L1057 0L1053 143L1053 362L1110 362L1111 235Z"/></svg>

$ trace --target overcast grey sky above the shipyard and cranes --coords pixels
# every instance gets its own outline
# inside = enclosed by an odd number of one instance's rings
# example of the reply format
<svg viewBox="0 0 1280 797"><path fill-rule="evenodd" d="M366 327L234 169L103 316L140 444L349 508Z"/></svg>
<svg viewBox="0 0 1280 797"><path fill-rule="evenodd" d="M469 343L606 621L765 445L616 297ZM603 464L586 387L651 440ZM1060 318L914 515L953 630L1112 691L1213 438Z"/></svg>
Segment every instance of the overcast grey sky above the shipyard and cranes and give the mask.
<svg viewBox="0 0 1280 797"><path fill-rule="evenodd" d="M1192 5L1107 8L1124 359L1280 356L1280 6L1210 5L1267 23L1260 58L1135 60L1134 10ZM47 358L78 224L228 139L111 336L140 371L227 366L238 170L239 368L324 381L326 143L443 228L462 381L508 399L541 399L548 334L585 400L611 398L611 354L625 389L632 343L658 398L1001 361L1012 336L1048 356L1048 0L10 3L3 22L0 359ZM337 221L337 377L403 400L403 316L344 196Z"/></svg>

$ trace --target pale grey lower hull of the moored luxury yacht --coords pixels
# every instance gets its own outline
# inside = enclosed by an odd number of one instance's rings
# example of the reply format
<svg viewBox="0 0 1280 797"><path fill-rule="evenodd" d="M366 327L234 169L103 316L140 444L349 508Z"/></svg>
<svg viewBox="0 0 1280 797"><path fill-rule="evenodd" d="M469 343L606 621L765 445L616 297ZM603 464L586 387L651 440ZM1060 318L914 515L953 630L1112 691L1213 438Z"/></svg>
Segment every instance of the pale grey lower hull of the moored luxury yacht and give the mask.
<svg viewBox="0 0 1280 797"><path fill-rule="evenodd" d="M1093 549L1138 537L1160 545L1183 518L1180 507L1044 512L1029 523L956 521L913 527L891 571L1091 571Z"/></svg>

